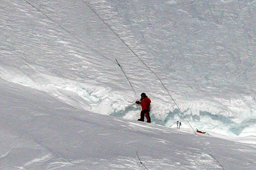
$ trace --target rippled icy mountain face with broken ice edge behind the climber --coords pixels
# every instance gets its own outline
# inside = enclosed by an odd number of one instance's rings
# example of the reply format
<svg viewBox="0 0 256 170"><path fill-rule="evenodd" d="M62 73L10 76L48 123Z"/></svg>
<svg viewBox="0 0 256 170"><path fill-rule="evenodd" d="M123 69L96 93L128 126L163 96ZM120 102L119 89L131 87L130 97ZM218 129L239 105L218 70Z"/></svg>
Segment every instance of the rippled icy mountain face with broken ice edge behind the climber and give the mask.
<svg viewBox="0 0 256 170"><path fill-rule="evenodd" d="M10 0L0 14L4 80L130 120L145 92L152 123L189 128L157 75L193 128L256 131L256 1Z"/></svg>

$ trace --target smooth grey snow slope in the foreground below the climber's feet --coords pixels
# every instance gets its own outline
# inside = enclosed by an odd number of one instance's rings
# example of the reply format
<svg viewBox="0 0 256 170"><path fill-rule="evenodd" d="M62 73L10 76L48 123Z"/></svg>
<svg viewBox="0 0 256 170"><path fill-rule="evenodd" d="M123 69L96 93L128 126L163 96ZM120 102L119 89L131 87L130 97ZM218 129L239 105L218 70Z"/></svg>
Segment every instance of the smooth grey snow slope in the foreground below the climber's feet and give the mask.
<svg viewBox="0 0 256 170"><path fill-rule="evenodd" d="M253 144L94 114L46 92L0 85L1 170L146 169L140 160L148 169L256 168Z"/></svg>

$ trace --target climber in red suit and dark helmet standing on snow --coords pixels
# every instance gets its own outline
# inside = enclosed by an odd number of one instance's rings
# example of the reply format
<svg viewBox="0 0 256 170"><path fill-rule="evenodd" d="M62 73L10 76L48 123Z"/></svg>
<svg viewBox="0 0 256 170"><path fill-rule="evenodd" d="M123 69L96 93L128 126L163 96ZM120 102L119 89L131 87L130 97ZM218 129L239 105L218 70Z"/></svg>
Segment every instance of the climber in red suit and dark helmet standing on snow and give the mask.
<svg viewBox="0 0 256 170"><path fill-rule="evenodd" d="M140 119L138 119L138 121L144 122L144 115L145 115L147 118L147 123L151 123L151 119L149 116L151 100L148 98L148 96L146 96L145 93L141 93L140 96L141 96L140 101L135 102L136 104L140 104L142 107L142 110L140 112Z"/></svg>

